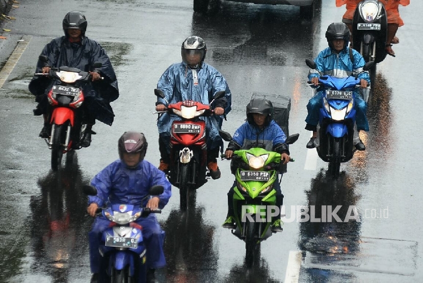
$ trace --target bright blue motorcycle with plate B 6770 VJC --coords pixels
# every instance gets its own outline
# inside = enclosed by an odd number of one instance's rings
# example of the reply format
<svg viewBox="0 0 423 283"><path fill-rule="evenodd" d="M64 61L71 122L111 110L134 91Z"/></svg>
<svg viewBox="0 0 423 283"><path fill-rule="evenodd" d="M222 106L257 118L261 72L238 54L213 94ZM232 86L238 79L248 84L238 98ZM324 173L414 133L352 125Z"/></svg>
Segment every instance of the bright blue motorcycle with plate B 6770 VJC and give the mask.
<svg viewBox="0 0 423 283"><path fill-rule="evenodd" d="M307 59L306 64L316 69L316 64ZM368 62L363 70L368 71L374 65ZM323 107L320 109L317 137L314 140L319 157L329 163L328 172L332 177L339 175L340 164L353 158L356 151L353 145L356 111L354 109L354 91L360 79L349 76L337 78L330 75L319 77L319 88L323 92ZM312 84L310 83L309 86Z"/></svg>

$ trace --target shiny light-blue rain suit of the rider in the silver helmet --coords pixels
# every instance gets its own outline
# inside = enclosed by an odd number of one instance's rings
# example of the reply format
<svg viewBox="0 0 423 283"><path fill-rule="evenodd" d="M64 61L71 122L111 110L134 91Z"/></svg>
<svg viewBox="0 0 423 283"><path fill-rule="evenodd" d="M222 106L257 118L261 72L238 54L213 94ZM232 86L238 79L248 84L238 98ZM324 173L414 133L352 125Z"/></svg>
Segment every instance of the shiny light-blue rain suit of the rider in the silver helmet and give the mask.
<svg viewBox="0 0 423 283"><path fill-rule="evenodd" d="M157 89L163 91L170 104L183 100L194 100L209 104L217 92L225 91L225 96L213 102L211 107L224 108L225 115L231 110L231 93L226 79L218 70L204 62L199 69L191 69L184 62L171 65L158 80ZM167 102L162 98L157 98L156 104L167 106ZM207 148L223 147L222 138L219 136L223 116L213 115L200 117L200 119L206 122L208 131ZM170 127L175 120L181 119L165 113L157 121L158 133L164 139L168 152L170 152Z"/></svg>

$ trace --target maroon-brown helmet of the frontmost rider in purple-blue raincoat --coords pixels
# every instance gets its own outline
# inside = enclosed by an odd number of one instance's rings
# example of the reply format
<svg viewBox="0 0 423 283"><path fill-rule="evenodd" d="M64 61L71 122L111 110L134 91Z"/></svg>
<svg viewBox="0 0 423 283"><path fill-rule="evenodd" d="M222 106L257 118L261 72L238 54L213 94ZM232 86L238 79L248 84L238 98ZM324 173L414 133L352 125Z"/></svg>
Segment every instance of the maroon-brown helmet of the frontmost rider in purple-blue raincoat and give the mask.
<svg viewBox="0 0 423 283"><path fill-rule="evenodd" d="M140 161L144 160L147 152L148 143L143 133L128 131L124 132L118 140L119 158L123 159L123 153L138 153L140 152ZM139 163L138 162L138 163ZM138 165L138 164L137 164Z"/></svg>

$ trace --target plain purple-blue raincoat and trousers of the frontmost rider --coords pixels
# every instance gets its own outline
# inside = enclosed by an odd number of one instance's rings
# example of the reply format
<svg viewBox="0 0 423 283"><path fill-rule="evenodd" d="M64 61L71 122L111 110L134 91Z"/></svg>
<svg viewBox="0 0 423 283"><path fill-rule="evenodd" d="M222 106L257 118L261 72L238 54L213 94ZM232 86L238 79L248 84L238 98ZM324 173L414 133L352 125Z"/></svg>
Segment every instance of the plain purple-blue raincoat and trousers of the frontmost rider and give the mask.
<svg viewBox="0 0 423 283"><path fill-rule="evenodd" d="M159 208L163 208L171 196L171 185L165 174L150 162L143 160L135 169L128 169L121 160L109 164L91 181L98 196L89 196L88 204L96 203L102 207L104 201L112 204L131 204L145 207L148 190L154 185L162 185L164 192L159 195ZM147 247L148 268L160 268L166 265L163 243L165 232L162 231L155 215L140 217L136 223L143 227L143 237ZM88 234L90 244L90 266L92 273L100 271L100 253L98 247L101 233L109 227L110 221L103 216L95 218L93 228Z"/></svg>

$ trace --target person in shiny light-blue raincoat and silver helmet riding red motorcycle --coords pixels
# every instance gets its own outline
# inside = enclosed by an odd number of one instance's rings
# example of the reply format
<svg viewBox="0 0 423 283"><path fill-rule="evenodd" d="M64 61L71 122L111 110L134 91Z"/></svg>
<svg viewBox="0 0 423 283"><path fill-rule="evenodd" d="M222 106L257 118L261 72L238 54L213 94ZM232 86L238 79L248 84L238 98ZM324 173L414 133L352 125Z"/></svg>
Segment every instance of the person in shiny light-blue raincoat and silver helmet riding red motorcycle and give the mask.
<svg viewBox="0 0 423 283"><path fill-rule="evenodd" d="M157 82L157 89L162 90L166 100L177 103L183 100L194 100L209 104L213 96L219 91L225 91L224 97L213 102L213 116L200 117L205 120L207 129L207 168L213 179L220 178L217 165L219 149L223 148L223 140L219 136L223 117L231 110L231 93L223 75L214 67L204 63L207 52L206 44L201 37L190 36L182 42L182 62L171 65ZM156 111L166 110L165 99L157 98ZM160 150L160 170L167 172L170 154L170 127L179 117L164 113L157 121L159 132L158 145Z"/></svg>

